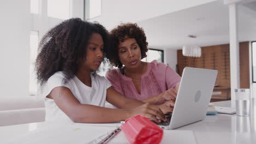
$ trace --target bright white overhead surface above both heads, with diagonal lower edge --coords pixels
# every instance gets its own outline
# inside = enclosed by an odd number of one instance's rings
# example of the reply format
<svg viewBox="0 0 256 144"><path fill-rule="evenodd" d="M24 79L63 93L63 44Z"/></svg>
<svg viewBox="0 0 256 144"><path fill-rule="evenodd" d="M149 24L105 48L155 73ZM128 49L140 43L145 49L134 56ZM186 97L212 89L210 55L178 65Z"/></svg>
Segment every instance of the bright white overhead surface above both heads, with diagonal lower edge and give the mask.
<svg viewBox="0 0 256 144"><path fill-rule="evenodd" d="M214 2L216 0L108 0L101 1L101 15L89 19L98 21L109 31L125 22L138 22L174 11L195 7L196 5ZM240 0L251 1L251 0ZM256 1L256 0L255 0ZM85 9L90 13L90 8Z"/></svg>

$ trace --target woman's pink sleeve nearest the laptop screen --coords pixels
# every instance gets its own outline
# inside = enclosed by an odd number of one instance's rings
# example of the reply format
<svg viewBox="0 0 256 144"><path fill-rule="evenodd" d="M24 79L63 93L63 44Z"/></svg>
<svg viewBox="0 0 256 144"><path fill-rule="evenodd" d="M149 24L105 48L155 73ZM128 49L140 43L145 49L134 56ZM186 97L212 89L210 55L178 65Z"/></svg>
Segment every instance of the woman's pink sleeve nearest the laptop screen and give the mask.
<svg viewBox="0 0 256 144"><path fill-rule="evenodd" d="M170 89L174 88L176 84L181 81L181 76L179 76L169 65L167 65L165 79L166 87L167 89Z"/></svg>

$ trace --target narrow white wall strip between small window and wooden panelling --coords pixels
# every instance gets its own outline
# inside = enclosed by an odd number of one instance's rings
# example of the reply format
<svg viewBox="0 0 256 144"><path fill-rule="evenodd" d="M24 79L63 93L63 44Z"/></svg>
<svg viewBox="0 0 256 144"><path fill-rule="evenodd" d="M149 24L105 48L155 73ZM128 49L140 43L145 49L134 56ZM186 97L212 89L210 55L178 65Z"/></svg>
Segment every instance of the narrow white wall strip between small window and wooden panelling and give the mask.
<svg viewBox="0 0 256 144"><path fill-rule="evenodd" d="M165 64L170 65L170 67L173 70L176 70L177 50L165 49L164 50L164 62L165 62Z"/></svg>

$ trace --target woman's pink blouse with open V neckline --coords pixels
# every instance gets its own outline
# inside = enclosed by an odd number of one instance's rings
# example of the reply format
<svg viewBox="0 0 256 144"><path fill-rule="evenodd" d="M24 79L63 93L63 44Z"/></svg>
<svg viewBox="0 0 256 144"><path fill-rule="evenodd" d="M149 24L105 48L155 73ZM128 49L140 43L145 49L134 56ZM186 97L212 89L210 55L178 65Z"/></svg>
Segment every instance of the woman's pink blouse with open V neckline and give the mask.
<svg viewBox="0 0 256 144"><path fill-rule="evenodd" d="M142 100L158 95L167 89L174 88L181 81L179 76L169 65L156 60L148 63L146 73L141 76L141 94L136 91L132 79L121 74L120 69L110 69L106 78L114 89L125 97Z"/></svg>

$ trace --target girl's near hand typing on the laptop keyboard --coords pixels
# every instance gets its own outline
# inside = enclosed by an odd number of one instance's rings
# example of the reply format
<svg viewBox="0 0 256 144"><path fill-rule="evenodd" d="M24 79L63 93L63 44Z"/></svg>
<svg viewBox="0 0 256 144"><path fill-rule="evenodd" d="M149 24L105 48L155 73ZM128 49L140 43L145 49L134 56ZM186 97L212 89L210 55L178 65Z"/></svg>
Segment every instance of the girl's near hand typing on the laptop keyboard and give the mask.
<svg viewBox="0 0 256 144"><path fill-rule="evenodd" d="M161 109L157 105L152 105L149 103L143 104L141 106L136 107L135 109L129 110L128 117L133 117L136 115L142 115L144 117L150 118L155 122L161 122L166 121L164 113L161 111ZM160 119L158 119L158 118Z"/></svg>

